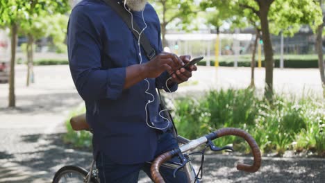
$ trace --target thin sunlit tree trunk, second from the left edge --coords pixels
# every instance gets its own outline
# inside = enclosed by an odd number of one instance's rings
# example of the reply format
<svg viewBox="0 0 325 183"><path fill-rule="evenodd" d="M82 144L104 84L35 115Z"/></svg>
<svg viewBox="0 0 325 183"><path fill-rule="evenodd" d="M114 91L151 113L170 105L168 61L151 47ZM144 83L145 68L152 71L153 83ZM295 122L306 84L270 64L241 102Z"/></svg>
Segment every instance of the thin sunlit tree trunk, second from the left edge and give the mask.
<svg viewBox="0 0 325 183"><path fill-rule="evenodd" d="M27 80L26 86L28 87L30 82L33 83L33 35L28 34L27 42Z"/></svg>

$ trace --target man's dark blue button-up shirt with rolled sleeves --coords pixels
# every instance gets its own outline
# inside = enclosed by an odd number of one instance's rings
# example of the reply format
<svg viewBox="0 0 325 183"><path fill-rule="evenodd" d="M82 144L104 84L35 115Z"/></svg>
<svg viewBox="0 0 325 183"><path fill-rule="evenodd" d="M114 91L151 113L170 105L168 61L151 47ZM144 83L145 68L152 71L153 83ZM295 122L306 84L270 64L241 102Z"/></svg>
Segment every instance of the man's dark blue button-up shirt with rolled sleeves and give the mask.
<svg viewBox="0 0 325 183"><path fill-rule="evenodd" d="M144 19L148 26L144 34L156 53L161 53L163 48L160 23L149 3L144 10ZM133 12L133 20L140 28L144 28L141 12ZM147 126L145 112L147 101L152 101L153 98L145 94L148 88L145 80L129 89L123 89L126 67L140 64L138 40L122 18L106 3L100 0L84 0L78 3L70 15L67 44L69 67L76 89L85 101L87 121L94 130L95 148L110 154L112 159L119 159L118 162L147 161L140 154L156 148L156 139L150 138L156 135L156 130ZM148 62L142 48L141 53L142 63ZM148 78L149 92L154 96L154 102L147 108L149 124L158 128L164 128L167 121L158 114L160 101L156 87L166 90L165 82L168 77L165 72L158 78ZM174 92L177 86L175 84L169 89ZM146 147L132 145L134 140L144 141L148 137L150 139L147 140ZM133 150L140 158L124 159L119 155L112 155L108 152L108 147L113 146ZM152 153L147 156L152 156Z"/></svg>

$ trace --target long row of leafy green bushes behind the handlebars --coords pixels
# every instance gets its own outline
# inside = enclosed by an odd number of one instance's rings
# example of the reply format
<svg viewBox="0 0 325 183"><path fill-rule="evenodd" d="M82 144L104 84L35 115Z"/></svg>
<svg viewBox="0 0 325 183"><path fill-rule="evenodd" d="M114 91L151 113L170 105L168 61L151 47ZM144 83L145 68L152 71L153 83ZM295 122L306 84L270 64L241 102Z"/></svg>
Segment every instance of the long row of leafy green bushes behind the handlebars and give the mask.
<svg viewBox="0 0 325 183"><path fill-rule="evenodd" d="M228 89L210 91L197 100L181 99L174 119L179 134L190 139L234 127L252 134L265 153L283 155L285 150L312 150L325 155L324 103L316 98L298 100L283 96L268 103L251 89ZM242 147L242 141L234 138L216 141L218 146L233 142Z"/></svg>

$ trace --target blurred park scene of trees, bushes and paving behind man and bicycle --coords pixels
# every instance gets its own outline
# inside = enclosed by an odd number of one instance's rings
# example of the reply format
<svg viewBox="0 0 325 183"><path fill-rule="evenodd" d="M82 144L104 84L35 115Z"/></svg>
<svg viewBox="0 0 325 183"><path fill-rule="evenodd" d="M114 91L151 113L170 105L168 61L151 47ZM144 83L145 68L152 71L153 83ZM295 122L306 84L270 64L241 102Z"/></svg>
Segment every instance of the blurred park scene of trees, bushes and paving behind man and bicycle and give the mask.
<svg viewBox="0 0 325 183"><path fill-rule="evenodd" d="M90 164L92 135L68 123L85 112L66 44L78 2L0 0L0 182L51 182L66 164ZM163 94L178 133L194 139L242 128L263 152L258 173L240 173L234 164L250 160L248 146L219 139L238 153L209 153L202 182L324 182L325 2L149 3L165 51L204 56L178 92ZM142 173L140 182L150 180Z"/></svg>

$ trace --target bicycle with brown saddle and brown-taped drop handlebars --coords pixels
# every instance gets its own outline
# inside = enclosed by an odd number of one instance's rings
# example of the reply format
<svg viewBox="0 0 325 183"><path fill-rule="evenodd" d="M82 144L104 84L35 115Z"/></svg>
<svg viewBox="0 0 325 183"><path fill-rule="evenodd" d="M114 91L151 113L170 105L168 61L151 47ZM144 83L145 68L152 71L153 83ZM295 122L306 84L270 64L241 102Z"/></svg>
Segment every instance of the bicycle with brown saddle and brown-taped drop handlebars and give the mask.
<svg viewBox="0 0 325 183"><path fill-rule="evenodd" d="M70 120L70 123L72 125L72 128L76 131L78 130L88 130L92 132L90 129L90 126L88 123L86 123L84 116L75 116ZM234 135L238 137L242 137L244 140L246 140L249 143L249 146L251 147L252 153L253 153L253 165L247 165L247 164L238 164L237 169L240 171L246 171L249 173L254 173L258 171L260 168L260 164L262 162L262 158L260 155L260 149L258 148L258 144L256 143L255 139L251 137L251 135L244 130L240 130L237 128L222 128L219 130L216 130L215 132L211 132L210 134L206 134L205 136L199 137L198 139L189 140L185 139L184 137L177 136L178 143L182 144L179 146L179 148L176 148L174 150L170 150L167 153L163 153L163 155L160 155L154 161L151 165L151 177L154 182L156 183L163 183L165 182L162 175L160 175L159 168L160 166L164 165L169 168L174 169L174 175L177 171L185 171L188 182L197 182L197 180L200 179L199 173L201 173L202 176L202 166L203 166L203 157L206 148L210 148L212 151L220 151L220 150L231 150L233 151L233 148L230 146L224 146L223 148L218 148L213 143L214 139L217 139L219 137L224 137L228 135ZM206 144L206 148L199 153L202 153L202 159L201 159L201 166L199 168L198 173L194 171L194 168L190 162L189 154L187 154L190 150L194 150L195 148ZM194 153L192 153L194 154ZM173 166L170 164L166 164L166 162L169 159L172 159L174 156L178 156L181 159L181 164L178 164L178 166ZM81 168L79 166L63 166L56 172L56 174L53 177L53 183L59 183L61 181L64 182L84 182L84 183L99 183L99 176L98 176L98 170L97 168L94 168L95 160L92 160L92 163L90 164L90 171L85 170L85 168Z"/></svg>

